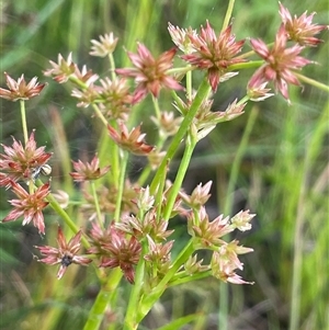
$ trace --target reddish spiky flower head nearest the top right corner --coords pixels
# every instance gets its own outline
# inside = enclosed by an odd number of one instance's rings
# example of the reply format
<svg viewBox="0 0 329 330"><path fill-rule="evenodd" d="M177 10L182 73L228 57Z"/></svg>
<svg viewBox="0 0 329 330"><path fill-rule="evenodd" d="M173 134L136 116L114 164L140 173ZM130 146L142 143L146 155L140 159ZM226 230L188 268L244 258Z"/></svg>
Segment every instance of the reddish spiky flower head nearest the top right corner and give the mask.
<svg viewBox="0 0 329 330"><path fill-rule="evenodd" d="M325 29L328 30L328 25L311 24L313 16L316 14L315 12L307 16L307 11L305 11L299 18L297 18L297 15L292 18L290 11L284 8L281 2L279 2L279 13L290 39L302 46L317 46L322 42L314 35Z"/></svg>

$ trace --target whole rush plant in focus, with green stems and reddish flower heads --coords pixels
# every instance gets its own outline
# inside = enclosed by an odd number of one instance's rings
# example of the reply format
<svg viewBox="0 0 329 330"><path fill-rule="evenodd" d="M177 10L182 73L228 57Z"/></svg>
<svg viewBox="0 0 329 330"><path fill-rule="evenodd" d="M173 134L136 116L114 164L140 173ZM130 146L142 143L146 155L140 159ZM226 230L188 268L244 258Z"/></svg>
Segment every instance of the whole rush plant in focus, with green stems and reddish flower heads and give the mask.
<svg viewBox="0 0 329 330"><path fill-rule="evenodd" d="M73 197L69 192L53 191L55 179L46 179L50 178L53 155L35 140L34 127L26 118L25 102L37 96L46 84L37 82L37 78L26 82L24 75L14 80L4 73L8 89L1 88L0 96L19 101L23 141L14 137L12 146L2 145L0 184L13 194L9 201L12 209L2 221L22 219L22 225L33 224L47 236L44 209L50 208L60 217L57 240L36 246L35 251L43 264L57 265L58 280L69 266L89 266L94 272L101 288L84 330L99 329L109 306L115 315L112 326L114 322L125 330L137 329L166 289L182 283L208 276L231 284L253 283L237 273L243 269L239 255L252 248L241 246L230 234L251 229L254 214L241 209L213 218L206 208L212 182L185 192L184 178L196 145L217 125L242 116L247 103L280 94L288 104L290 86L302 87L302 82L329 91L327 86L300 73L306 65L314 65L304 57L304 49L316 47L321 42L316 35L328 26L313 23L314 14L292 16L280 3L282 23L273 43L265 44L259 38L237 41L230 15L231 9L219 32L208 21L200 31L169 23L174 46L155 55L147 45L137 43L136 53L127 50L132 67L125 68L115 66L117 38L113 33L100 36L91 41L90 55L109 59L110 75L102 78L75 62L72 54L50 60L44 75L68 83L77 106L88 109L103 132L93 158L72 160L72 171L65 173L78 183L78 212L89 220L83 228L76 224L76 215L67 212ZM251 50L245 52L246 44ZM246 95L224 111L214 110L213 96L222 86L252 68L256 71L245 87ZM194 78L200 73L203 78L197 84ZM164 93L172 98L171 111L162 109ZM132 121L146 98L152 100L154 115L140 117L143 124L157 129L152 144L147 141L141 123L133 127ZM168 173L179 149L183 156L171 181ZM127 170L133 157L145 160L143 171L134 179ZM173 257L174 229L169 229L169 224L174 217L185 224L190 240ZM200 254L208 258L205 261ZM129 283L131 294L122 316L114 297L124 281Z"/></svg>

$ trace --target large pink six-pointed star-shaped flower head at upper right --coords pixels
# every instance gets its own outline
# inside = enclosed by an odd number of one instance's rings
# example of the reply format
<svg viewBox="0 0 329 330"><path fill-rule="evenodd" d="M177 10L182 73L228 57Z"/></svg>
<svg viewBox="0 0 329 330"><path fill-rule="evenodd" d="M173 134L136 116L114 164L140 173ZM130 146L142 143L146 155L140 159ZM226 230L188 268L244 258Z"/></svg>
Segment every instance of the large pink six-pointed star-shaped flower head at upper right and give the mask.
<svg viewBox="0 0 329 330"><path fill-rule="evenodd" d="M272 49L269 49L261 39L250 41L252 49L265 60L265 64L253 73L248 86L256 87L266 81L273 81L275 90L288 100L288 83L299 86L294 70L302 69L310 60L298 56L304 49L303 46L294 45L287 48L286 42L287 35L283 25L276 33Z"/></svg>

